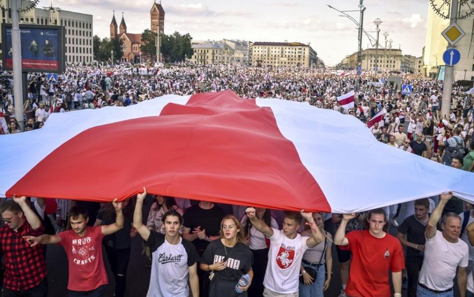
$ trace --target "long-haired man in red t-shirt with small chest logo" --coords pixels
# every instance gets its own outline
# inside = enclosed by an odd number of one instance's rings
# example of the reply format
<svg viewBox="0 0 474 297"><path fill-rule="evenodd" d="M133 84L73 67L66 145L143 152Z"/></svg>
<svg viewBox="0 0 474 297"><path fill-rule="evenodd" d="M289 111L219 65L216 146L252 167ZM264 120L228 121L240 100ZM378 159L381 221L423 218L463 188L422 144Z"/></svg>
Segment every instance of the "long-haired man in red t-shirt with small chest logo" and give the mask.
<svg viewBox="0 0 474 297"><path fill-rule="evenodd" d="M351 297L390 297L388 270L391 270L394 297L401 297L401 270L405 267L400 241L387 233L386 214L381 208L368 212L368 230L345 234L345 226L355 213L342 215L334 244L352 252L345 293Z"/></svg>

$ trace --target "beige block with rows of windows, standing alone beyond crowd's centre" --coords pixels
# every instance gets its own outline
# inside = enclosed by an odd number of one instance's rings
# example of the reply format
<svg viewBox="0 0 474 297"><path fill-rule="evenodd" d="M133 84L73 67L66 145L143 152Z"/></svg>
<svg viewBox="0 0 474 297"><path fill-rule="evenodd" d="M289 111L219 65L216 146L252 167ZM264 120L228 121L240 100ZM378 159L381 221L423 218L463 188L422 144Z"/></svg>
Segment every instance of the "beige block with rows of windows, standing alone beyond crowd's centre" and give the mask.
<svg viewBox="0 0 474 297"><path fill-rule="evenodd" d="M253 66L316 66L317 54L308 45L298 42L255 42L251 47Z"/></svg>

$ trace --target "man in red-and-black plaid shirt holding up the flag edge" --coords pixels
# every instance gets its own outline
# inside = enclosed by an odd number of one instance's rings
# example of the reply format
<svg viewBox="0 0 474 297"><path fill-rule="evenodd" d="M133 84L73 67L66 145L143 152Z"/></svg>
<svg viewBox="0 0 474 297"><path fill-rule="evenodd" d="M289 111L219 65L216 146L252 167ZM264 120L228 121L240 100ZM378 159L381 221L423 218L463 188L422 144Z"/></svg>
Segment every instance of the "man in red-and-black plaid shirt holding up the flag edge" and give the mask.
<svg viewBox="0 0 474 297"><path fill-rule="evenodd" d="M44 233L41 221L26 197L5 201L0 207L0 253L4 254L3 297L46 297L47 279L44 246L33 248L23 236Z"/></svg>

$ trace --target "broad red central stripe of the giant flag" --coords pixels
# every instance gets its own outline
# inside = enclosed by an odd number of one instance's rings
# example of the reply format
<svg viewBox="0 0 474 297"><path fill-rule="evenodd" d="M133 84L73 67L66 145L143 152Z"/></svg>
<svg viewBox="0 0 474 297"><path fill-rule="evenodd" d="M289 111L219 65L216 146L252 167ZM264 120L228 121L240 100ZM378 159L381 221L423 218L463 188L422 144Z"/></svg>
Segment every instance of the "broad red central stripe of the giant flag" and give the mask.
<svg viewBox="0 0 474 297"><path fill-rule="evenodd" d="M174 197L330 212L271 109L230 91L193 95L185 106L166 105L160 116L85 130L6 195L111 201L143 186Z"/></svg>

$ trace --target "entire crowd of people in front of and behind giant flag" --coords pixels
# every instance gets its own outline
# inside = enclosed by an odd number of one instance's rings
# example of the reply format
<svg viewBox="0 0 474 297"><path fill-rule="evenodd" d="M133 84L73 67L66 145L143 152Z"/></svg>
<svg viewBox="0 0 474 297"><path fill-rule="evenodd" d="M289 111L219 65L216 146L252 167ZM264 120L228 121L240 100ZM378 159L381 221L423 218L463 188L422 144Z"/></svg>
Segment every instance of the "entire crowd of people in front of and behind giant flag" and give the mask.
<svg viewBox="0 0 474 297"><path fill-rule="evenodd" d="M305 101L357 117L382 143L434 162L474 171L472 97L454 86L441 116L438 81L403 74L402 95L386 77L325 69L247 66L68 66L57 82L29 76L24 131L40 129L53 112L137 104L166 94L232 90L240 97ZM355 107L337 97L355 91ZM22 132L12 92L3 86L0 133ZM373 118L381 115L379 121ZM1 126L1 125L0 125ZM144 201L152 200L142 220ZM307 213L218 205L148 195L112 203L13 197L2 201L3 296L46 296L46 244L68 259L69 296L102 296L104 256L123 296L131 240L143 239L147 296L323 296L333 273L339 297L474 296L474 209L451 193L363 213ZM400 221L400 222L399 222ZM335 228L330 226L335 225ZM397 228L394 236L388 227ZM102 245L105 255L102 254ZM335 245L335 248L334 248ZM336 254L333 255L332 251ZM339 262L333 271L333 259ZM34 263L34 266L31 265ZM391 285L389 282L391 273Z"/></svg>

